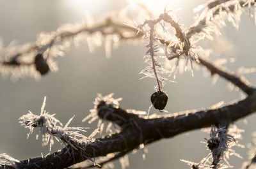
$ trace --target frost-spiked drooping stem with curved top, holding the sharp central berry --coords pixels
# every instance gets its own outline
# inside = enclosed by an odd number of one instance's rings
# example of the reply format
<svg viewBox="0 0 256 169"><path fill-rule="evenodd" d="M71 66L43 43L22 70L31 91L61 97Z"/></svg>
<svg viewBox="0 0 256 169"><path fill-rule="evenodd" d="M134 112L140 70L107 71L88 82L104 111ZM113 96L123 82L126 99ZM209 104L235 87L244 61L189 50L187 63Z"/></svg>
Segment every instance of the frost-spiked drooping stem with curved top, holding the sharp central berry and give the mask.
<svg viewBox="0 0 256 169"><path fill-rule="evenodd" d="M164 37L162 34L166 32L163 24L170 24L176 30L176 36L172 36L172 38L178 38L182 41L182 45L184 44L182 46L184 47L184 51L180 52L185 52L187 54L190 48L190 45L188 45L189 42L186 40L186 38L184 38L179 25L177 22L175 22L175 20L173 20L171 15L168 15L168 13L164 12L163 14L159 15L159 17L152 20L146 20L143 24L138 25L137 29L145 34L149 41L148 45L146 45L148 50L145 55L145 62L147 62L149 66L147 66L140 73L145 75L145 77L156 78L158 91L163 89L163 85L166 81L172 81L163 76L166 75L170 77L172 72L164 68L164 61L166 58L159 54L161 43L164 43ZM172 38L170 37L170 39ZM167 50L165 50L165 54L168 57Z"/></svg>

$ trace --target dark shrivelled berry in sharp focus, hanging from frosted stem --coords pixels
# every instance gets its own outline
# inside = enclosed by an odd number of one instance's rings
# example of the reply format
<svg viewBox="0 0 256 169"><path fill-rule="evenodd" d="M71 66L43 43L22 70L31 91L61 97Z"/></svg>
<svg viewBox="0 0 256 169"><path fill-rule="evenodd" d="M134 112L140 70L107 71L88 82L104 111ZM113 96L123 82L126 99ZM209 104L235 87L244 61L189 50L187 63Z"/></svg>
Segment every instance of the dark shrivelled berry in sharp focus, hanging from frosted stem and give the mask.
<svg viewBox="0 0 256 169"><path fill-rule="evenodd" d="M158 109L160 112L163 112L168 101L168 96L162 91L157 91L151 95L150 99L154 108Z"/></svg>

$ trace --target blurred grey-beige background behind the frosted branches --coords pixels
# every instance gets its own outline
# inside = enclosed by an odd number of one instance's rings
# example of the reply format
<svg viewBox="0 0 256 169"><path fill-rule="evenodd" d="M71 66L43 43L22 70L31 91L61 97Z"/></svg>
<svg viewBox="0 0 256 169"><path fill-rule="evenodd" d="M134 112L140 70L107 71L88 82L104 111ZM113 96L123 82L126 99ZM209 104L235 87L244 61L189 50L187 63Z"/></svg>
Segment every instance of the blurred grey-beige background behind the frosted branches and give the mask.
<svg viewBox="0 0 256 169"><path fill-rule="evenodd" d="M193 9L206 1L144 1L149 8L162 10L168 3L170 10L181 8L175 12L180 18L180 24L189 27L194 22ZM59 26L67 23L76 24L82 22L84 17L90 14L96 21L100 15L109 11L123 8L129 1L120 0L45 0L45 1L19 1L0 0L0 37L6 47L12 40L20 44L33 42L36 35L42 31L55 31ZM205 43L213 45L211 55L218 57L236 58L236 62L227 64L230 70L236 71L240 66L246 68L255 67L255 25L247 14L241 17L241 25L236 30L227 22L227 27L221 29L221 38L227 43ZM49 152L49 147L42 147L42 141L36 140L31 135L28 140L28 129L20 126L18 119L31 110L34 114L40 114L40 108L44 96L47 96L47 112L56 114L56 118L65 124L68 119L76 115L70 126L89 127L88 133L95 129L97 122L88 124L81 122L93 108L93 100L97 93L115 93L116 98L122 97L122 108L134 108L147 111L150 106L150 96L154 92L156 82L152 78L139 80L141 70L147 66L143 55L146 52L145 44L131 45L122 43L113 50L112 57L107 59L104 48L100 47L95 53L90 54L85 42L79 48L71 46L64 57L57 57L56 61L60 71L48 73L39 82L33 78L21 78L13 82L10 77L0 78L0 153L6 153L15 159L27 159L41 156ZM224 47L224 50L220 49ZM219 48L218 48L219 47ZM226 50L227 48L227 50ZM216 55L214 55L216 57ZM190 71L177 76L177 83L168 82L164 91L168 93L168 112L179 112L193 108L210 107L219 101L228 103L240 98L240 93L230 91L225 80L219 79L212 85L211 77L204 77L202 71L195 71L191 77ZM256 85L255 73L246 77ZM157 112L151 110L151 113ZM159 112L157 112L159 113ZM246 122L248 121L248 124ZM256 115L250 115L246 119L237 121L239 128L245 129L243 140L240 143L252 142L252 132L255 131ZM198 162L209 151L206 150L204 138L209 138L207 133L196 130L182 135L161 140L147 145L146 159L141 157L142 152L129 156L129 168L189 168L180 159ZM55 143L52 152L61 149L59 143ZM247 149L236 149L244 159L231 157L230 164L234 168L240 168L241 163L247 159ZM115 163L115 168L120 168Z"/></svg>

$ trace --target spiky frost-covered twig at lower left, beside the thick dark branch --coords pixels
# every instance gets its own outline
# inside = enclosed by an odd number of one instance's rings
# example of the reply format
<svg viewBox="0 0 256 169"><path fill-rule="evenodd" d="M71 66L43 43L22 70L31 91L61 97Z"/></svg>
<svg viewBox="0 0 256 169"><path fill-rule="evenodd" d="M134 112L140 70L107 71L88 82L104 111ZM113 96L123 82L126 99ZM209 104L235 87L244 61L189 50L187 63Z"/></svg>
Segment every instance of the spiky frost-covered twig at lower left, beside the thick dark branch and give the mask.
<svg viewBox="0 0 256 169"><path fill-rule="evenodd" d="M86 129L88 128L68 127L74 117L62 127L63 125L54 117L54 114L51 115L44 110L45 101L46 97L44 98L40 115L35 115L29 111L29 114L22 115L22 117L19 118L20 124L25 128L29 128L28 137L33 133L34 128L39 128L42 135L42 145L45 146L49 144L50 151L54 144L54 138L57 141L61 140L66 147L70 146L72 149L83 150L82 144L90 142L90 138L79 132L86 132Z"/></svg>

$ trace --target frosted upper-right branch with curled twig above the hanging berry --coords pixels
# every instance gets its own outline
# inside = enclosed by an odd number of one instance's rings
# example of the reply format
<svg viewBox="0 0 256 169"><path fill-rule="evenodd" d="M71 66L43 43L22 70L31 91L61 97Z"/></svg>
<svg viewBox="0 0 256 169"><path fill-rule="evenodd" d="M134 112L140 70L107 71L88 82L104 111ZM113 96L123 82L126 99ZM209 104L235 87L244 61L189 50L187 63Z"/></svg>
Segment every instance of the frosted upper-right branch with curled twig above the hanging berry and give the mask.
<svg viewBox="0 0 256 169"><path fill-rule="evenodd" d="M200 54L200 51L203 50L201 47L196 47L195 44L200 40L204 40L205 38L209 38L210 40L212 40L212 34L218 34L220 32L218 27L225 26L226 19L232 22L232 24L235 27L238 27L241 13L244 10L243 8L251 8L253 5L255 5L253 1L209 1L205 5L200 6L200 8L204 8L204 11L202 11L200 17L195 21L195 23L189 27L188 31L186 31L186 29L180 26L179 22L177 20L174 20L172 15L169 15L168 12L166 11L164 11L163 14L159 15L159 17L155 19L146 20L143 24L139 25L138 27L141 28L150 22L154 23L154 25L159 23L159 27L163 28L162 32L164 33L167 32L166 29L170 29L168 25L166 25L166 23L170 24L170 26L173 27L173 29L175 30L174 37L172 36L172 34L169 36L163 36L161 35L160 28L154 29L154 31L156 31L156 37L154 38L155 41L157 42L158 40L158 42L160 42L160 44L163 45L163 47L159 45L159 47L156 46L154 48L163 48L164 55L169 61L171 61L172 59L177 59L177 61L174 66L172 65L172 67L175 67L175 70L173 70L171 67L171 71L169 71L166 68L164 68L163 64L159 64L158 67L161 68L161 70L156 71L156 73L154 71L154 75L152 71L150 71L150 68L148 67L145 68L145 70L141 71L141 73L145 74L146 77L153 77L157 79L157 74L159 74L159 77L161 77L160 74L166 73L167 75L171 75L174 72L173 78L175 78L177 70L179 68L180 59L184 59L186 62L184 70L187 70L188 60L190 60L191 73L193 75L192 61L199 63L200 59L198 59L198 55ZM162 20L164 21L163 23L161 23ZM150 37L150 35L148 35L146 31L142 32L145 34L145 36ZM150 38L148 39L151 40ZM205 62L202 59L203 57L204 56L201 57L201 64L208 69L213 68L211 62ZM161 57L159 58L161 59ZM155 61L156 59L157 57L154 57ZM156 70L156 68L154 68L154 64L152 67L153 70ZM220 73L221 77L230 80L234 85L240 87L247 94L249 94L250 91L252 91L252 85L246 82L244 77L238 78L236 77L236 75L228 73L227 71L223 73L223 69L218 70L216 68L215 70L216 71L214 73ZM212 72L212 70L210 71ZM163 83L164 80L166 81L166 78L161 77L161 79L161 83Z"/></svg>

